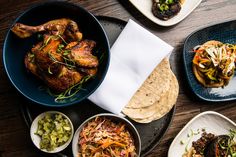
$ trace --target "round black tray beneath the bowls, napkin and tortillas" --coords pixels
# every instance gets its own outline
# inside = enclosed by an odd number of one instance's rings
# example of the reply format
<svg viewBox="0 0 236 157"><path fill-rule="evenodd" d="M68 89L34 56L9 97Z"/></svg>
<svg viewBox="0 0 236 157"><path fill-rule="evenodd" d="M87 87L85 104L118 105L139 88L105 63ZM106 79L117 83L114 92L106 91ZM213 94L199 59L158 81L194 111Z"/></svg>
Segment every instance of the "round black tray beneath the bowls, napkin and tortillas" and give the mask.
<svg viewBox="0 0 236 157"><path fill-rule="evenodd" d="M104 16L99 16L98 19L103 25L108 35L110 45L112 46L112 44L115 42L116 38L126 25L126 22L116 18ZM75 129L78 128L79 125L87 118L98 113L107 113L107 111L99 108L88 100L82 101L81 103L70 107L63 108L41 107L26 100L22 100L20 102L20 105L22 115L28 127L30 127L32 120L44 111L58 110L64 113L71 119ZM146 156L159 143L171 123L174 112L175 106L161 119L148 124L139 124L130 120L141 135L141 156ZM65 154L65 156L72 156L71 145L67 147L62 152L62 154Z"/></svg>

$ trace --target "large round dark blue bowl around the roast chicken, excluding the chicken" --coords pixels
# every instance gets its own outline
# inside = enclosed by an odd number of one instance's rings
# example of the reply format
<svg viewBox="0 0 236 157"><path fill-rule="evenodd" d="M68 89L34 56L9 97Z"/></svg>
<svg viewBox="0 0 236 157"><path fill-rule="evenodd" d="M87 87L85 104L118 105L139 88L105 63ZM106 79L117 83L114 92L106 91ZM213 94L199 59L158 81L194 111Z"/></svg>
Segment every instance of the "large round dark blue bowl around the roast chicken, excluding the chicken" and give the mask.
<svg viewBox="0 0 236 157"><path fill-rule="evenodd" d="M22 13L13 24L20 22L27 25L39 25L58 18L70 18L76 21L84 39L96 41L98 58L103 55L96 77L83 86L71 99L55 102L55 98L40 88L44 83L27 71L24 65L25 54L36 43L36 35L27 39L20 39L10 30L3 46L3 64L7 76L14 87L26 98L44 106L68 106L79 103L91 95L102 83L110 60L109 41L99 21L87 10L78 5L67 2L47 2L34 6Z"/></svg>

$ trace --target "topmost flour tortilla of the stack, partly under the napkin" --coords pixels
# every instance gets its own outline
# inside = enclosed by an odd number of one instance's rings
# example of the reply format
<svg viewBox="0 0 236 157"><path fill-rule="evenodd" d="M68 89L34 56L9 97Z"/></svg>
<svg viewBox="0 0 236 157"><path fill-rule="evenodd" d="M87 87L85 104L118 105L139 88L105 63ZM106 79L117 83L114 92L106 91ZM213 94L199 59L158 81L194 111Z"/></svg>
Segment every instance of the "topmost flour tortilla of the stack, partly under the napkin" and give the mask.
<svg viewBox="0 0 236 157"><path fill-rule="evenodd" d="M125 107L140 109L160 101L170 88L171 76L169 60L164 58Z"/></svg>

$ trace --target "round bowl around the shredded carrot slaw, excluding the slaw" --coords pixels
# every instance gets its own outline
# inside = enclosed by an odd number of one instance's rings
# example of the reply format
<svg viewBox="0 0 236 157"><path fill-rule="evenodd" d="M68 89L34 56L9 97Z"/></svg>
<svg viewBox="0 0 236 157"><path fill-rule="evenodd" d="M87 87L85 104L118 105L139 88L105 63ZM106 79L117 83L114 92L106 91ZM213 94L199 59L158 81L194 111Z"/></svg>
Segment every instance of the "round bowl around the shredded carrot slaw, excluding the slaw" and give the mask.
<svg viewBox="0 0 236 157"><path fill-rule="evenodd" d="M138 157L140 156L140 153L141 153L141 139L140 139L139 133L136 130L136 128L134 127L134 125L131 122L129 122L127 119L125 119L123 117L120 117L120 116L117 116L115 114L101 113L101 114L94 115L94 116L88 118L87 120L85 120L78 127L78 129L76 130L76 132L74 134L74 137L73 137L73 140L72 140L72 152L73 152L73 156L74 157L78 156L78 152L79 152L79 149L80 149L78 144L79 144L79 140L80 140L80 133L81 133L81 131L84 129L84 127L89 122L91 122L92 120L94 120L97 117L107 118L108 120L111 120L112 122L114 122L116 124L117 123L124 124L125 128L128 130L128 132L130 133L130 135L131 135L131 137L132 137L132 139L134 141L134 146L135 146L135 149L136 149L135 152L136 152Z"/></svg>

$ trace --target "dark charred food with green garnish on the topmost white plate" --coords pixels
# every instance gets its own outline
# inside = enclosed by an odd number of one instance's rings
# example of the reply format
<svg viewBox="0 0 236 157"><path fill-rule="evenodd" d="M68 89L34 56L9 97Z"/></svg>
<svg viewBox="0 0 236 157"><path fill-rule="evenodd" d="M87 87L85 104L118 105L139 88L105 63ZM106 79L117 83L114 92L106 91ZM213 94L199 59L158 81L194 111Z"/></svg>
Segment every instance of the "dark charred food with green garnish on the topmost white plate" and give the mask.
<svg viewBox="0 0 236 157"><path fill-rule="evenodd" d="M152 13L161 20L168 20L181 10L183 0L152 0Z"/></svg>

